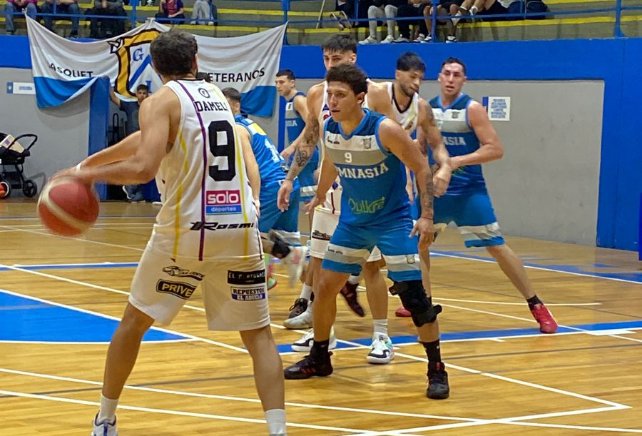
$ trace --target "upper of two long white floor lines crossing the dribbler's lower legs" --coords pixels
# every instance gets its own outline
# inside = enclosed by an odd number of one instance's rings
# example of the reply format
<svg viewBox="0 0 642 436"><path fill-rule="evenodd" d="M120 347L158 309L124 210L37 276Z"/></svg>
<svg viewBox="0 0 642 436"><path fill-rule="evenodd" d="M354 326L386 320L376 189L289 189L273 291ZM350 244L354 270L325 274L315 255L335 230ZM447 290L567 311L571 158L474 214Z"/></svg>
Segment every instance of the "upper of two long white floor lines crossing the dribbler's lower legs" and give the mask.
<svg viewBox="0 0 642 436"><path fill-rule="evenodd" d="M15 375L26 375L26 376L29 376L29 377L44 378L44 379L49 379L49 380L59 380L59 381L65 381L65 382L82 383L82 384L85 384L85 385L95 385L95 386L102 386L103 385L103 383L96 382L96 381L93 381L93 380L83 380L83 379L79 379L79 378L62 377L60 375L41 374L39 372L28 372L28 371L20 371L20 370L11 370L9 368L0 368L0 372L6 372L6 373L9 373L9 374L15 374ZM201 394L201 393L198 393L198 392L185 392L185 391L180 391L180 390L167 390L167 389L160 389L160 388L157 388L157 387L125 385L125 389L141 390L141 391L145 391L145 392L157 392L157 393L170 394L170 395L182 395L182 396L185 396L185 397L200 397L200 398L210 398L210 399L214 399L214 400L229 400L229 401L260 403L260 400L255 399L255 398L230 397L229 395ZM424 414L420 414L420 413L407 413L407 412L389 412L389 411L386 411L386 410L358 409L358 408L355 408L355 407L325 406L325 405L315 405L315 404L302 403L302 402L285 402L285 405L286 406L290 406L290 407L303 407L303 408L307 408L307 409L337 410L337 411L340 411L340 412L359 412L359 413L372 414L372 415L416 417L416 418L424 418L424 419L432 419L432 420L452 420L452 421L464 421L464 422L477 421L476 418L450 417L450 416L440 416L440 415L424 415Z"/></svg>

